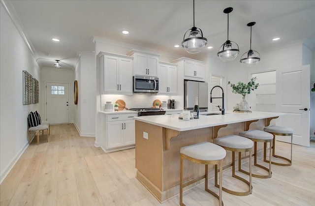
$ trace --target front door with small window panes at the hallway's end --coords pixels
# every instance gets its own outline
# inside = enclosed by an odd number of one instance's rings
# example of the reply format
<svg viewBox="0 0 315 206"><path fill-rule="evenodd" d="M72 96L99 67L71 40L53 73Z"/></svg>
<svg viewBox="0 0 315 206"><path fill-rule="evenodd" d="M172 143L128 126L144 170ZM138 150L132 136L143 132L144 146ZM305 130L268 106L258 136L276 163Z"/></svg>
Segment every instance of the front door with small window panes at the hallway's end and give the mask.
<svg viewBox="0 0 315 206"><path fill-rule="evenodd" d="M46 83L46 117L51 124L69 123L69 84Z"/></svg>

